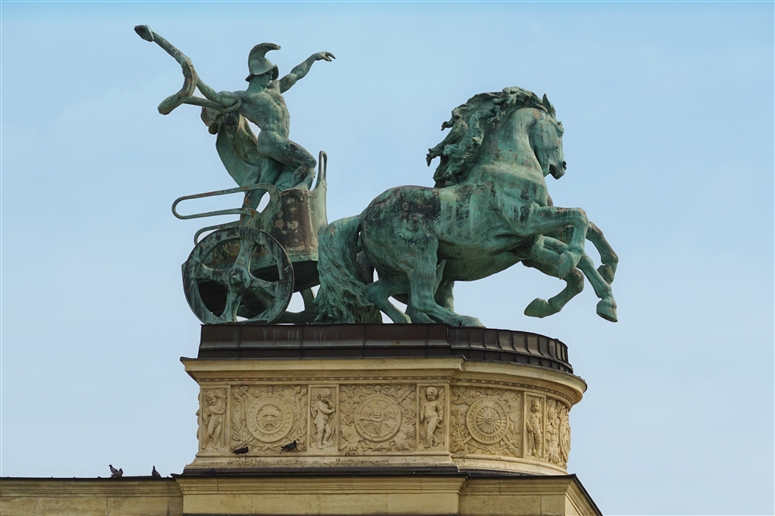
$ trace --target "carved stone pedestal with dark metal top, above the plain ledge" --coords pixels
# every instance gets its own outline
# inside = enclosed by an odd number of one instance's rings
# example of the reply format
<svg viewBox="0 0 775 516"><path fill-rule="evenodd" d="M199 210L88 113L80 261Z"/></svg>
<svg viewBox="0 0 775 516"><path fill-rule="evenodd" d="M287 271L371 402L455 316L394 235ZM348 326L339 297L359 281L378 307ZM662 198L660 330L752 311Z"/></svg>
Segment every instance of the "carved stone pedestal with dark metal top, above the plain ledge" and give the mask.
<svg viewBox="0 0 775 516"><path fill-rule="evenodd" d="M184 476L566 475L586 384L541 335L446 325L206 325Z"/></svg>

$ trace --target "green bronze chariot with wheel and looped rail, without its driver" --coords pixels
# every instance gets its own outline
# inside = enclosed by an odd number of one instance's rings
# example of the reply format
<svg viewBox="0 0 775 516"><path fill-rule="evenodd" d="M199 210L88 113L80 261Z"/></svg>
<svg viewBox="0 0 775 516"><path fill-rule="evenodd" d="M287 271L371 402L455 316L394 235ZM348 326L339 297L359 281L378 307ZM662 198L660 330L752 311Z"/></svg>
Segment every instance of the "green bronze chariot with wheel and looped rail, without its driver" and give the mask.
<svg viewBox="0 0 775 516"><path fill-rule="evenodd" d="M318 232L328 224L327 161L321 152L313 188L281 191L274 185L257 183L175 200L172 213L179 219L240 216L238 221L197 231L194 250L182 266L186 300L200 321L310 322L314 299L311 289L319 284ZM245 193L241 208L192 215L177 211L183 201L239 192ZM259 210L253 199L263 192L269 195L269 202ZM294 292L304 299L303 312L287 311Z"/></svg>

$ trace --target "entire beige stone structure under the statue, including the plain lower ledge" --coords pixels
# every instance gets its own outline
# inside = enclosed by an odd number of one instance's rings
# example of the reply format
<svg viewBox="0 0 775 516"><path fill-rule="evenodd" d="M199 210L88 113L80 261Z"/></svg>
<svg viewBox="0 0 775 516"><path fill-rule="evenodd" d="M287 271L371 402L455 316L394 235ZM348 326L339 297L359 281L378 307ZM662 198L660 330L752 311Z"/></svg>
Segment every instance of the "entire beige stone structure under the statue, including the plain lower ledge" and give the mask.
<svg viewBox="0 0 775 516"><path fill-rule="evenodd" d="M173 479L0 479L3 516L599 515L566 472L567 348L444 325L202 327Z"/></svg>

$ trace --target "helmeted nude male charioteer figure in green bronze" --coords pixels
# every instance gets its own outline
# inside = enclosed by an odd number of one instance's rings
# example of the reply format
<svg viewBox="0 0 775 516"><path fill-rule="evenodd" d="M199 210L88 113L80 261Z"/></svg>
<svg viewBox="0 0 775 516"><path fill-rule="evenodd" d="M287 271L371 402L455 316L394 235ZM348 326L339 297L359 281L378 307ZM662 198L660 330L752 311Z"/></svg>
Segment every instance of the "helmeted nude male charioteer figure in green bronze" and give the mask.
<svg viewBox="0 0 775 516"><path fill-rule="evenodd" d="M253 47L248 55L250 75L245 79L249 83L247 90L216 92L198 77L197 88L208 100L229 111L229 108L232 108L256 124L261 129L258 135L258 154L293 167L293 182L298 184L306 179L317 162L304 147L288 139L291 117L282 93L307 75L315 61L331 61L334 55L330 52L313 54L278 81L277 66L264 56L270 50L279 49L280 46L274 43L261 43ZM282 168L264 167L258 182L275 184Z"/></svg>

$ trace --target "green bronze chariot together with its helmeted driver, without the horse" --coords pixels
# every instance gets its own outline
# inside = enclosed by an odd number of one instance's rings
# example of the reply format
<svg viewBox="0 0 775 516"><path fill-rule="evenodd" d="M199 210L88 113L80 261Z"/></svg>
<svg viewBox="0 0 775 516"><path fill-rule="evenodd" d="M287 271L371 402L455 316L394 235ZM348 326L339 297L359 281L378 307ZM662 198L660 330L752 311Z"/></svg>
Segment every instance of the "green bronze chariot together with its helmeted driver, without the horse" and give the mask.
<svg viewBox="0 0 775 516"><path fill-rule="evenodd" d="M256 45L248 55L249 84L244 91L216 92L197 75L191 60L146 25L135 27L180 64L181 90L159 104L169 114L181 104L202 107L201 118L211 134L224 167L239 185L177 199L172 212L180 219L239 215L239 220L207 226L194 235L194 250L183 264L183 288L194 314L206 324L233 322L304 323L313 319L310 290L318 285L317 237L326 217L326 156L313 188L317 162L291 141L290 115L282 93L307 75L315 61L331 61L318 52L278 79L279 70L267 58L274 43ZM199 90L205 98L194 95ZM252 132L248 122L260 132ZM269 203L258 210L261 198ZM181 215L178 205L205 197L244 194L242 207ZM204 237L200 240L200 236ZM291 295L300 292L305 311L286 311Z"/></svg>

